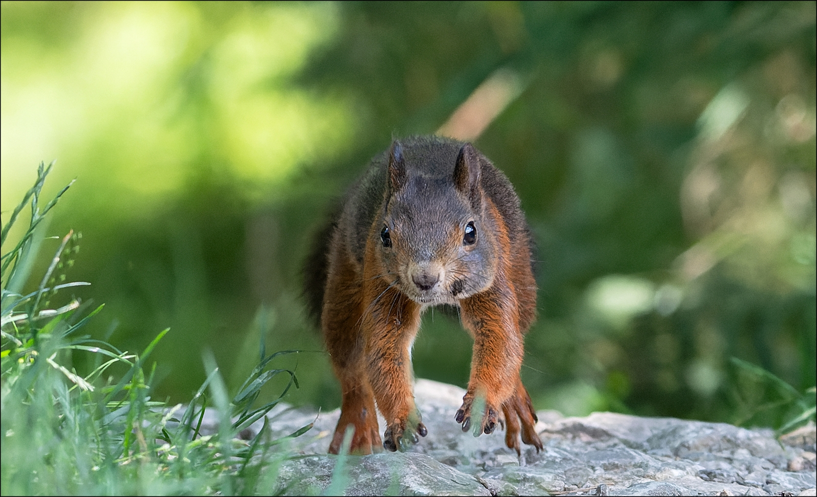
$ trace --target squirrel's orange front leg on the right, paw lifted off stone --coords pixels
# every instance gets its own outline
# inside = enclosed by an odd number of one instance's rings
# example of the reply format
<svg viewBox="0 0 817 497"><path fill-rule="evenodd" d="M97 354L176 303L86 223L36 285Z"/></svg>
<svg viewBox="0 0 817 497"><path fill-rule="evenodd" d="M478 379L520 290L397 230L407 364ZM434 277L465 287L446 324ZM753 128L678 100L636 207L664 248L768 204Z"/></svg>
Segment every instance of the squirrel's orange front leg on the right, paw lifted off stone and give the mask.
<svg viewBox="0 0 817 497"><path fill-rule="evenodd" d="M460 301L460 308L462 324L474 337L474 351L468 390L455 419L462 424L462 431L476 422L476 435L492 433L503 403L516 390L524 355L516 298L498 281L488 291ZM483 412L472 413L472 407L480 402L484 402Z"/></svg>

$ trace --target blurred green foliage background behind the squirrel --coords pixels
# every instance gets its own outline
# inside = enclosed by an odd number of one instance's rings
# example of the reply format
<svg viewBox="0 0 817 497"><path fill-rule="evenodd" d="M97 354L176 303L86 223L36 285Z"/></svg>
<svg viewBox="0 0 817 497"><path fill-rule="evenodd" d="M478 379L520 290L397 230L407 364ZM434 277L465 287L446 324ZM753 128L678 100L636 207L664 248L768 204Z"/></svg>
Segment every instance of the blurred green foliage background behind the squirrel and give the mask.
<svg viewBox="0 0 817 497"><path fill-rule="evenodd" d="M502 71L475 144L538 241L535 405L780 426L792 394L730 357L815 385L815 50L815 2L3 2L3 216L40 160L78 177L47 234L83 232L95 335L171 327L159 395L190 398L203 348L243 378L266 329L316 351L288 400L337 406L310 237ZM415 372L464 386L470 347L429 313Z"/></svg>

